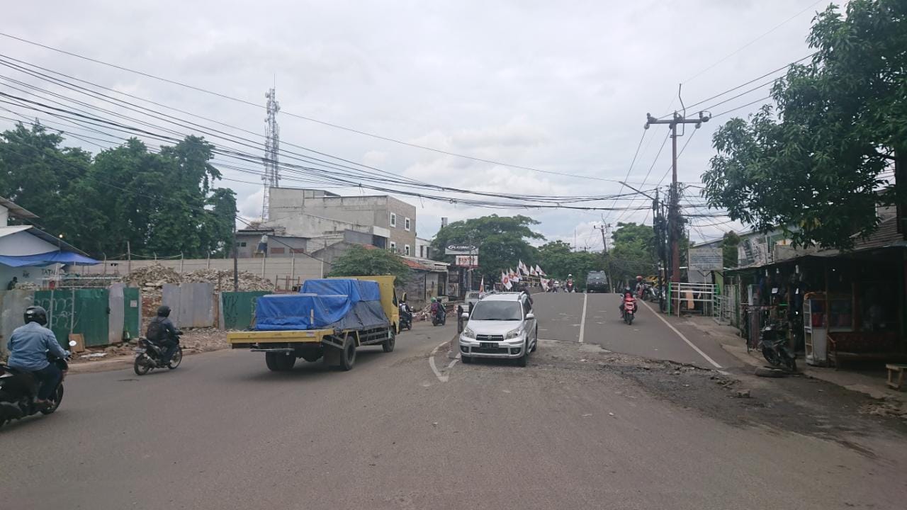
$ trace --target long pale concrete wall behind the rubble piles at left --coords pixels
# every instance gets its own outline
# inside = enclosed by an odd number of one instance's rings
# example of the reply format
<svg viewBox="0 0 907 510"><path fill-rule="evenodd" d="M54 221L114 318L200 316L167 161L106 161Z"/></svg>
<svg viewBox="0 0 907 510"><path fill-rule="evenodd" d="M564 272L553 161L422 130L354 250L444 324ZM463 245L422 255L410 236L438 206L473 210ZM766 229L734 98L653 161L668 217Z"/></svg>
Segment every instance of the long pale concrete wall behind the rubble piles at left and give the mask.
<svg viewBox="0 0 907 510"><path fill-rule="evenodd" d="M132 269L150 266L154 263L155 260L132 260ZM158 260L157 263L182 272L203 269L233 270L232 259ZM249 271L271 281L284 280L287 276L290 280L321 278L321 266L321 260L314 260L301 253L297 253L295 259L239 259L240 271ZM128 260L107 260L94 266L81 266L78 271L83 276L103 273L125 275L129 272L129 267Z"/></svg>

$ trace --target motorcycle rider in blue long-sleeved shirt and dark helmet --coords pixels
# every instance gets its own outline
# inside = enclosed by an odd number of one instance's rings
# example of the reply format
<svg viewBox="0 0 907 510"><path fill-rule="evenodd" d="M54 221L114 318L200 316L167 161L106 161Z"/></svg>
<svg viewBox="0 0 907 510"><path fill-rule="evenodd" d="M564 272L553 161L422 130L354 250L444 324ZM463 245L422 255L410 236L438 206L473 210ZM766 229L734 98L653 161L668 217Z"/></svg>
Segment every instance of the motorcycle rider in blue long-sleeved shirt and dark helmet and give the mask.
<svg viewBox="0 0 907 510"><path fill-rule="evenodd" d="M60 347L54 332L46 328L47 310L43 307L28 307L23 314L24 326L13 330L6 348L9 349L10 368L31 372L38 380L38 393L35 402L40 407L50 407L48 398L59 384L63 373L56 364L47 360L50 352L57 358L67 358L69 351Z"/></svg>

